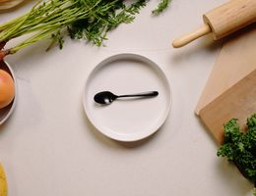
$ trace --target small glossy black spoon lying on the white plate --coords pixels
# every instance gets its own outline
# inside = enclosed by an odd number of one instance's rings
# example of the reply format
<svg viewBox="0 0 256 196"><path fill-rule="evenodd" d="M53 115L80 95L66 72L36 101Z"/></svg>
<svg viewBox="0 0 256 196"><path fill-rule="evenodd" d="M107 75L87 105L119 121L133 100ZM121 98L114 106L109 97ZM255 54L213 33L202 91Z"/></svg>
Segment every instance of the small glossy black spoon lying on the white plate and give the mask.
<svg viewBox="0 0 256 196"><path fill-rule="evenodd" d="M98 104L110 104L114 100L118 98L123 98L123 97L155 97L158 95L159 95L158 91L150 91L150 92L143 92L143 93L129 94L129 95L115 95L109 91L102 91L102 92L96 93L94 99Z"/></svg>

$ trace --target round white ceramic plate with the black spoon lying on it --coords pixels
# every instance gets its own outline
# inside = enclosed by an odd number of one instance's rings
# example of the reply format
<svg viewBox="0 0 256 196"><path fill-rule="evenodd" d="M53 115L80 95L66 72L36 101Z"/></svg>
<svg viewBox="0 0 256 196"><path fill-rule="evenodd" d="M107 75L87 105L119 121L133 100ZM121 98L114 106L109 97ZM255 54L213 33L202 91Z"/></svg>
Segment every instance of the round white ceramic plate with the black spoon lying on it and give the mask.
<svg viewBox="0 0 256 196"><path fill-rule="evenodd" d="M105 90L117 95L157 90L159 96L116 100L100 106L94 96ZM156 63L136 54L118 54L103 60L89 75L83 102L88 119L98 131L115 140L136 141L155 133L164 123L171 92L166 76Z"/></svg>

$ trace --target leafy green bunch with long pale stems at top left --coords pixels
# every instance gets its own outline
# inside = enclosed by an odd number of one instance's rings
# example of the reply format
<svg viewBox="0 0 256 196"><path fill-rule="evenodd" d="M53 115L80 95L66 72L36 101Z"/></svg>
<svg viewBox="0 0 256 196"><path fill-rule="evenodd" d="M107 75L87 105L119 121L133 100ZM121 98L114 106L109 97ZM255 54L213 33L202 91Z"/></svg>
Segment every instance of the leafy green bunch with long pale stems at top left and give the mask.
<svg viewBox="0 0 256 196"><path fill-rule="evenodd" d="M51 38L63 46L63 31L74 39L86 39L100 46L109 30L120 24L132 23L135 15L146 6L147 0L39 0L32 9L14 20L0 25L0 61L24 47L42 39ZM169 0L160 0L153 11L158 15ZM3 49L10 40L29 34L20 44ZM48 48L49 49L49 48Z"/></svg>

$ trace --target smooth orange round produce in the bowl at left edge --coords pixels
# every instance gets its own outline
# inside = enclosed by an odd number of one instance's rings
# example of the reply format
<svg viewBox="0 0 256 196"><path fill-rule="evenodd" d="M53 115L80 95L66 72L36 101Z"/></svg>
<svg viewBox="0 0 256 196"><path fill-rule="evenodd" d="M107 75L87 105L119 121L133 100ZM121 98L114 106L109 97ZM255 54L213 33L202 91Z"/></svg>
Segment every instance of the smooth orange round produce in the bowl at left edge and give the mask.
<svg viewBox="0 0 256 196"><path fill-rule="evenodd" d="M15 85L13 77L0 70L0 109L8 106L14 99Z"/></svg>

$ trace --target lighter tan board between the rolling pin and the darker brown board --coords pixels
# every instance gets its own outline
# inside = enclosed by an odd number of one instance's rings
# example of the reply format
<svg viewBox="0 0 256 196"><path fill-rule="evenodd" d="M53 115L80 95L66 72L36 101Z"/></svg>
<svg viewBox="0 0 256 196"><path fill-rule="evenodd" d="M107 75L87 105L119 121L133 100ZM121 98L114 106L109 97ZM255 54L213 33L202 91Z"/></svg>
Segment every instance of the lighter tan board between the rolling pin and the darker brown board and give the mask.
<svg viewBox="0 0 256 196"><path fill-rule="evenodd" d="M256 69L256 25L229 37L220 52L195 109L199 111Z"/></svg>

